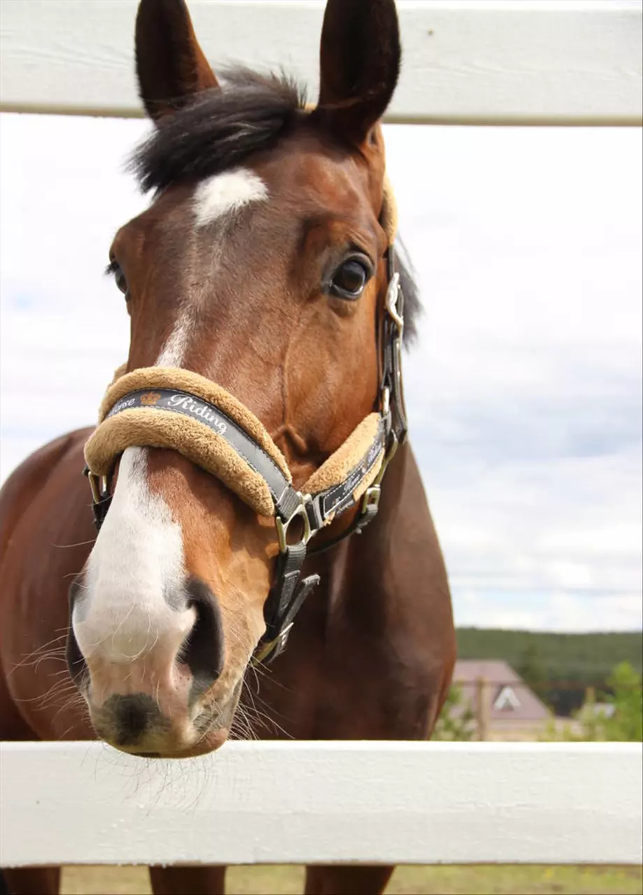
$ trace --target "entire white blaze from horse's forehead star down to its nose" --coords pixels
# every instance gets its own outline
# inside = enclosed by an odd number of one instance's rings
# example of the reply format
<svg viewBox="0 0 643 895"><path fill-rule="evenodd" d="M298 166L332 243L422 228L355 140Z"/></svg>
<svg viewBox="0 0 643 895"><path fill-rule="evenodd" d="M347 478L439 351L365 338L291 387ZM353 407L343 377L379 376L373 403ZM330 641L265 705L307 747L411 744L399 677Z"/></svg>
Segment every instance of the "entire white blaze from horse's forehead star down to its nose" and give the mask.
<svg viewBox="0 0 643 895"><path fill-rule="evenodd" d="M266 183L248 168L208 177L194 192L196 226L232 216L267 196ZM224 238L218 236L219 241ZM221 251L222 246L217 248ZM191 329L190 306L184 303L157 366L182 366ZM89 555L86 592L72 617L80 651L89 663L92 656L133 662L157 644L165 644L174 654L196 619L194 609L181 609L185 586L181 525L165 501L148 489L147 468L148 448L124 451L112 504Z"/></svg>

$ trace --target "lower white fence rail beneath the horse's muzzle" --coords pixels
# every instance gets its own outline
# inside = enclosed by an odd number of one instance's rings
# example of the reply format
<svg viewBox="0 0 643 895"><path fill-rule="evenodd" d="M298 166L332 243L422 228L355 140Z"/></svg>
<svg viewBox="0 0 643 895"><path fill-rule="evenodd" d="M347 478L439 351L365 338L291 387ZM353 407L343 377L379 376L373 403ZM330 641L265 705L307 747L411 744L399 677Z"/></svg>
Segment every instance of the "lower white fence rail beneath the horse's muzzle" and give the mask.
<svg viewBox="0 0 643 895"><path fill-rule="evenodd" d="M640 744L3 743L0 865L640 864Z"/></svg>

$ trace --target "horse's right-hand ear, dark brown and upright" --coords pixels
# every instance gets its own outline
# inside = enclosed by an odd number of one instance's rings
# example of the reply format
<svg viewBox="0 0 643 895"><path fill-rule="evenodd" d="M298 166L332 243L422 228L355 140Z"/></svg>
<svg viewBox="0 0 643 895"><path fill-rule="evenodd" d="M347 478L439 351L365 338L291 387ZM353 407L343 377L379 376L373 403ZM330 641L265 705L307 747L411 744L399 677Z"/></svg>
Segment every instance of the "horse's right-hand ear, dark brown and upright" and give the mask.
<svg viewBox="0 0 643 895"><path fill-rule="evenodd" d="M317 115L361 143L384 115L400 73L394 0L328 0Z"/></svg>

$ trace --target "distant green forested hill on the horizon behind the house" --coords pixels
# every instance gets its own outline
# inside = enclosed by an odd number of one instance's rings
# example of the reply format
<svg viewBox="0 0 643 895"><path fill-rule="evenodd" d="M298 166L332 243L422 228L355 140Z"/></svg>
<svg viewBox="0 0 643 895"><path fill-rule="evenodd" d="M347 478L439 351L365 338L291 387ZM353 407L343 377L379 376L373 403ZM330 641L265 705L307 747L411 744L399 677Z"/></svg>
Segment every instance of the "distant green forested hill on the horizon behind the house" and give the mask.
<svg viewBox="0 0 643 895"><path fill-rule="evenodd" d="M504 659L558 714L580 708L585 689L607 690L615 665L628 661L643 673L643 635L550 634L461 627L458 658Z"/></svg>

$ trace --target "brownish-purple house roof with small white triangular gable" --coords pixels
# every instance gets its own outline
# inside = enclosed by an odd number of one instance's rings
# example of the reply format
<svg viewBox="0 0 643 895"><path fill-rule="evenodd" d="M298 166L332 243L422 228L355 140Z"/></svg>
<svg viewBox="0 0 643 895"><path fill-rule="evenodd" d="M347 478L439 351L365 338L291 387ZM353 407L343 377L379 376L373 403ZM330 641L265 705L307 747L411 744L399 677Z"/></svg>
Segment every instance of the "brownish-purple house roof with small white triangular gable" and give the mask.
<svg viewBox="0 0 643 895"><path fill-rule="evenodd" d="M551 717L546 704L503 660L461 659L455 663L453 684L459 686L463 701L476 712L478 681L486 681L485 698L492 721L532 721Z"/></svg>

